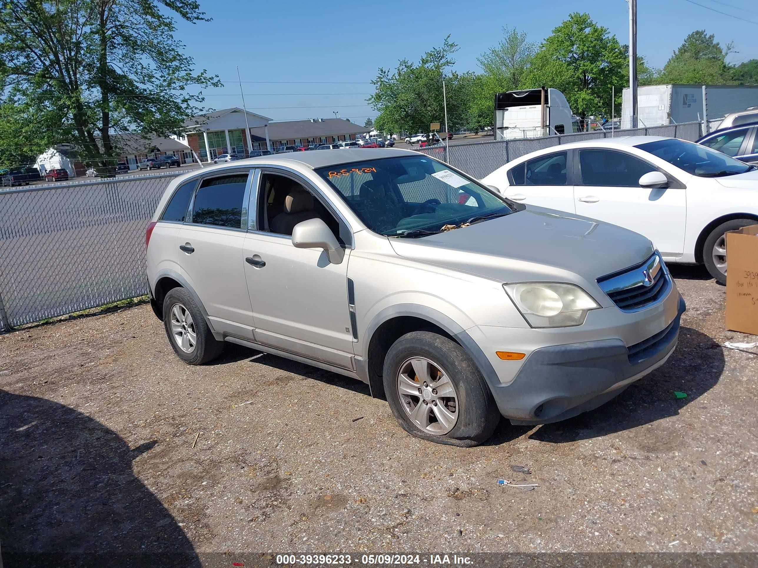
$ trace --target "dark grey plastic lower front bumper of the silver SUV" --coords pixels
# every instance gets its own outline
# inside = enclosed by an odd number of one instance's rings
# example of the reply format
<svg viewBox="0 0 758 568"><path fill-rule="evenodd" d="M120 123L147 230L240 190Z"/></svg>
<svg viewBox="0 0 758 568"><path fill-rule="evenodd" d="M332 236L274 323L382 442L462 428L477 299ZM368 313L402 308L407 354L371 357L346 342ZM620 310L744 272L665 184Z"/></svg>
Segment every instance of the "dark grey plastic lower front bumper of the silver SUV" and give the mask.
<svg viewBox="0 0 758 568"><path fill-rule="evenodd" d="M672 306L675 316L668 325L629 347L622 339L597 339L537 348L512 379L497 376L487 361L496 376L493 380L480 364L500 414L514 424L552 423L593 410L621 394L674 351L686 309L684 299L675 294L669 299L677 302ZM508 382L501 382L504 379Z"/></svg>

